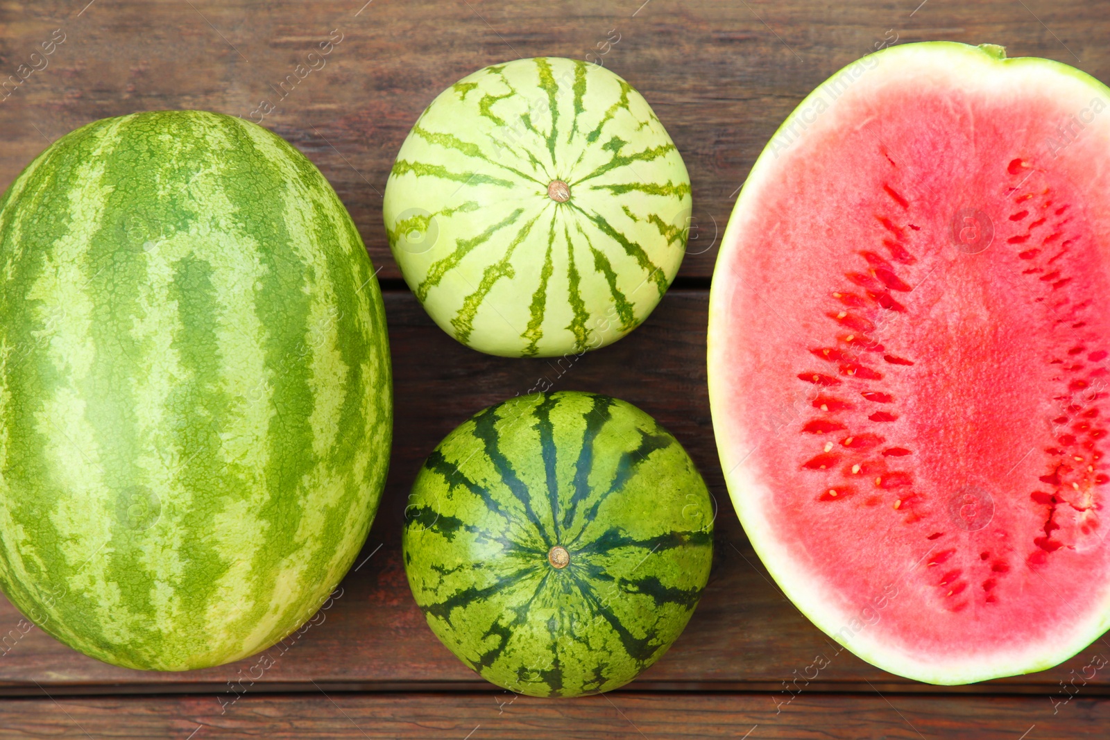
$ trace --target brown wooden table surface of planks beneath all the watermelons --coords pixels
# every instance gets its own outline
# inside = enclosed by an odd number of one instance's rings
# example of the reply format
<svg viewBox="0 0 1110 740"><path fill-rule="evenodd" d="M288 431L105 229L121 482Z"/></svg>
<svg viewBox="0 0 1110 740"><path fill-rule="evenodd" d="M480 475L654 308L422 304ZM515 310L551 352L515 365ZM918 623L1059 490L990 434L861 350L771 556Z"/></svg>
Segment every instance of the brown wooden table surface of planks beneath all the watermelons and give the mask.
<svg viewBox="0 0 1110 740"><path fill-rule="evenodd" d="M9 697L0 700L0 738L1110 737L1110 671L1081 678L1084 666L1110 656L1110 639L1042 673L957 688L908 681L837 652L779 592L745 538L717 463L705 385L719 233L756 155L809 90L892 39L1001 43L1010 55L1057 59L1110 80L1104 3L85 2L0 3L3 74L41 68L31 53L54 29L64 34L46 68L0 102L0 185L49 141L94 119L165 108L249 116L269 100L264 124L331 180L382 268L395 445L361 565L323 621L268 651L268 670L255 668L256 657L188 673L115 668L39 629L23 633L20 615L0 598L0 638L8 635L0 693ZM329 36L341 40L325 65L283 94L286 75ZM695 227L672 291L628 338L568 368L457 345L406 290L382 227L386 176L424 107L481 67L533 55L601 58L625 77L669 130L694 186ZM713 576L686 632L639 680L579 700L515 697L478 679L427 629L400 560L403 503L423 457L472 413L541 377L656 416L690 452L719 505ZM814 677L818 658L829 665Z"/></svg>

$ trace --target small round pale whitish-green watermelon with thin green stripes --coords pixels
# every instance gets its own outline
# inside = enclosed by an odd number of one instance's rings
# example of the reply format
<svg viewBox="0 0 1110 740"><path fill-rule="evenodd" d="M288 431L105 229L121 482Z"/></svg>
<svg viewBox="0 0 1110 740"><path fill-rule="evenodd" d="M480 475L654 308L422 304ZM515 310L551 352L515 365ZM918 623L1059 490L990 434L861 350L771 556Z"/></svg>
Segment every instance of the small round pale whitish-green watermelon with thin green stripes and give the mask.
<svg viewBox="0 0 1110 740"><path fill-rule="evenodd" d="M690 183L638 92L571 59L463 78L385 186L390 249L428 315L508 357L582 355L643 322L678 272Z"/></svg>

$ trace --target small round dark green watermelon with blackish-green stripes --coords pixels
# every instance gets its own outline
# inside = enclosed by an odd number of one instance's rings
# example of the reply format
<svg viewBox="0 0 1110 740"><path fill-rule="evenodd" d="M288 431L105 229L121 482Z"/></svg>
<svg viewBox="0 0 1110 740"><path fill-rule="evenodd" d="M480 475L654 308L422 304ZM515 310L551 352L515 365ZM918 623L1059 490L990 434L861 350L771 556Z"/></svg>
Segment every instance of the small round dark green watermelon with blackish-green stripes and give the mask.
<svg viewBox="0 0 1110 740"><path fill-rule="evenodd" d="M709 577L713 505L682 445L607 396L533 394L452 432L421 468L402 538L432 631L485 679L574 697L633 680ZM554 546L569 556L548 560Z"/></svg>

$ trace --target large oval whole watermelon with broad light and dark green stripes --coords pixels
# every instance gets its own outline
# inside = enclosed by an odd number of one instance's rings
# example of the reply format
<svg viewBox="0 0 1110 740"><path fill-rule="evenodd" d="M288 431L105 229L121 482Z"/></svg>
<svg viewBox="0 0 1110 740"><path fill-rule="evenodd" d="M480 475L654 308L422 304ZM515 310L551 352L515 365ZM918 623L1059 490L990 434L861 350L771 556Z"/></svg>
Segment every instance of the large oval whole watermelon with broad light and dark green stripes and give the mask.
<svg viewBox="0 0 1110 740"><path fill-rule="evenodd" d="M9 187L0 264L8 598L141 669L236 660L309 618L392 435L381 293L320 171L228 115L97 121Z"/></svg>

